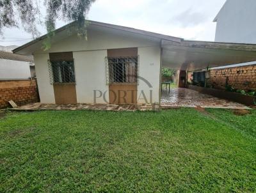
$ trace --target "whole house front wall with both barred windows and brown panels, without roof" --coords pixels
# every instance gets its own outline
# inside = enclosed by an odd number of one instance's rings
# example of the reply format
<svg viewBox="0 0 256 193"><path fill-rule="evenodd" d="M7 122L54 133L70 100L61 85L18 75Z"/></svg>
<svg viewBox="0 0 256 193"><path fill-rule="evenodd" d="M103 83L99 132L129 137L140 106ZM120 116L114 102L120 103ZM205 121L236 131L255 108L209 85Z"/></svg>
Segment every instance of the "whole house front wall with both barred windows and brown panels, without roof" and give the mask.
<svg viewBox="0 0 256 193"><path fill-rule="evenodd" d="M159 37L97 24L64 36L33 52L43 104L159 103Z"/></svg>

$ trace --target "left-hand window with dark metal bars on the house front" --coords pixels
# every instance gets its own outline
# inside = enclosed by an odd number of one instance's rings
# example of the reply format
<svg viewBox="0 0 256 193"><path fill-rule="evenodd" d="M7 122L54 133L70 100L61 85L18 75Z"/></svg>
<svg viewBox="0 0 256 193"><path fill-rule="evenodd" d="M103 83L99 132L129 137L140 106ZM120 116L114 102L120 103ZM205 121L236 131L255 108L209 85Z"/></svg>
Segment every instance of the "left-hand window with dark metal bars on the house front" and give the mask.
<svg viewBox="0 0 256 193"><path fill-rule="evenodd" d="M49 68L51 84L76 82L74 60L73 61L48 60L48 68Z"/></svg>

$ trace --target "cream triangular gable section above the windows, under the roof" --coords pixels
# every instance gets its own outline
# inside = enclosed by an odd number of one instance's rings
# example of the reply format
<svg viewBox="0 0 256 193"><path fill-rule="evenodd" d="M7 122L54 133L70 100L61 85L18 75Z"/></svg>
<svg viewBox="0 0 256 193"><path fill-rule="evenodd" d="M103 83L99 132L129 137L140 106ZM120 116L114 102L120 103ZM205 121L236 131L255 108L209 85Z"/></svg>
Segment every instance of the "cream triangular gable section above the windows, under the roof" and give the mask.
<svg viewBox="0 0 256 193"><path fill-rule="evenodd" d="M79 38L77 35L67 36L64 40L53 43L51 49L47 52L76 52L86 50L107 50L128 47L148 47L156 46L159 43L150 41L145 36L122 33L109 33L108 31L87 32L87 39ZM35 53L45 53L43 50L37 50Z"/></svg>

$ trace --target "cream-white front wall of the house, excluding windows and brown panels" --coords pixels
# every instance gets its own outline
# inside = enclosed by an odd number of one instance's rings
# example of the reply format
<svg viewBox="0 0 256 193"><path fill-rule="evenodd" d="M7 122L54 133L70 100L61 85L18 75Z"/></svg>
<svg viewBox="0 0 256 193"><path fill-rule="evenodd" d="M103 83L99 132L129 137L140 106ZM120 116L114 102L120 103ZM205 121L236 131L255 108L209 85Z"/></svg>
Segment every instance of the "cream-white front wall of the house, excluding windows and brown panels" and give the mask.
<svg viewBox="0 0 256 193"><path fill-rule="evenodd" d="M146 79L152 88L139 80L138 103L145 103L141 90L145 93L148 102L159 102L159 73L160 73L160 46L156 40L145 40L134 35L109 34L100 31L88 31L88 40L79 39L77 35L67 36L65 40L52 44L51 49L44 52L37 50L34 54L36 75L40 100L45 104L54 104L54 89L50 84L47 59L49 52L73 52L74 68L76 73L77 103L93 104L94 90L96 91L96 103L104 104L109 100L106 84L106 61L107 49L120 49L138 47L140 56L139 75ZM152 101L150 101L150 90L152 90ZM104 100L103 96L106 96ZM99 97L100 96L100 97Z"/></svg>

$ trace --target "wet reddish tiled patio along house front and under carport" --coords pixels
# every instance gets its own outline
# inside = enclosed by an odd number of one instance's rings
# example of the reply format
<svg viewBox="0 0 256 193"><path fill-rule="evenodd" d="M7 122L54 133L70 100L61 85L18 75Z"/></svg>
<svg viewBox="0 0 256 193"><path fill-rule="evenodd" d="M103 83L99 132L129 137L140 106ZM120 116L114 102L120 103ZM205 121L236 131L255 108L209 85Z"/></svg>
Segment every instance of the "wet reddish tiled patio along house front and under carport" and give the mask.
<svg viewBox="0 0 256 193"><path fill-rule="evenodd" d="M158 106L158 105L157 105ZM98 111L152 111L159 109L155 105L114 105L114 104L76 104L76 105L54 105L54 104L28 104L17 107L16 111L36 110L98 110ZM187 88L172 88L162 92L161 108L171 109L175 107L202 107L223 109L250 109L246 105L231 102L211 95L205 95L198 91Z"/></svg>

